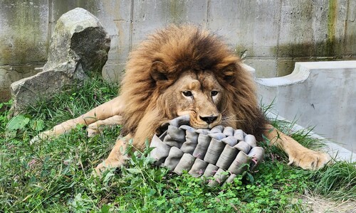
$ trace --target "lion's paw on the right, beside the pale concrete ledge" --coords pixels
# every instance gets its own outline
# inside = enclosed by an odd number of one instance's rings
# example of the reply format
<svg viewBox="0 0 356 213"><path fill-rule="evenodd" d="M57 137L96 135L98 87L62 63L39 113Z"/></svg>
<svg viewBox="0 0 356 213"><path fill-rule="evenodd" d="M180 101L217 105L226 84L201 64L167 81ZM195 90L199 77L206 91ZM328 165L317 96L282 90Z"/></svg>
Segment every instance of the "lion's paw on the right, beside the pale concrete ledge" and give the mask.
<svg viewBox="0 0 356 213"><path fill-rule="evenodd" d="M304 148L289 155L288 165L296 165L305 170L318 170L330 163L330 155Z"/></svg>

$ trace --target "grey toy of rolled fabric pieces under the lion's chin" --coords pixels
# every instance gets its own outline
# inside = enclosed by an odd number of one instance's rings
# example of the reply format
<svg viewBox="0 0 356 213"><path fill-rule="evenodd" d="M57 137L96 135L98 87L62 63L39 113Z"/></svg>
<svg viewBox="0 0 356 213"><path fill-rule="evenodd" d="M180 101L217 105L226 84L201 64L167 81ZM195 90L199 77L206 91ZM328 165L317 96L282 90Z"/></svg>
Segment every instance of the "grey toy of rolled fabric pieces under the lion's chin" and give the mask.
<svg viewBox="0 0 356 213"><path fill-rule="evenodd" d="M178 175L187 170L194 177L212 177L211 186L232 182L236 175L255 170L264 157L255 136L231 126L194 129L189 126L189 116L179 116L162 124L162 129L164 133L155 135L150 144L155 165Z"/></svg>

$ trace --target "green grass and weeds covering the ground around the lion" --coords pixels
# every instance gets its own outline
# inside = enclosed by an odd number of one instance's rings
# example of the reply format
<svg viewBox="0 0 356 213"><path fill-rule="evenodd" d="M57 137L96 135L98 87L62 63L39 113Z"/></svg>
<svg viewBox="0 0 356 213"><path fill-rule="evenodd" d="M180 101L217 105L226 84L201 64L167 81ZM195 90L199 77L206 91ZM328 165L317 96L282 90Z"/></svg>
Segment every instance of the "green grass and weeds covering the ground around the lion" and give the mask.
<svg viewBox="0 0 356 213"><path fill-rule="evenodd" d="M300 195L308 190L333 200L354 200L355 163L337 162L316 172L287 165L288 158L266 145L258 172L222 187L207 187L187 173L175 175L152 166L144 153L102 178L93 169L120 133L120 126L87 138L83 126L51 141L30 145L38 132L83 114L115 97L117 88L90 80L80 89L58 94L14 119L0 114L0 212L304 212ZM11 103L0 108L9 109ZM275 122L305 146L320 146L292 124Z"/></svg>

